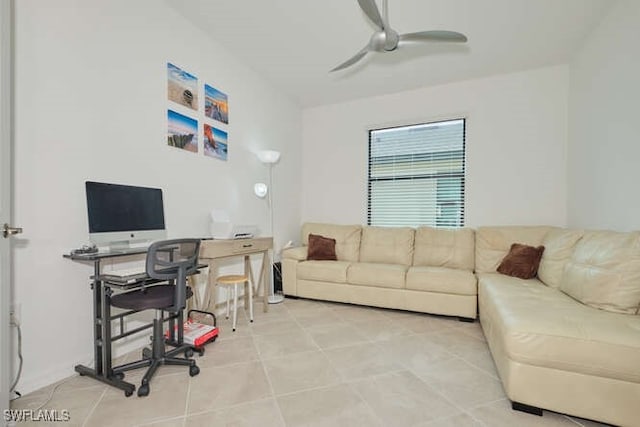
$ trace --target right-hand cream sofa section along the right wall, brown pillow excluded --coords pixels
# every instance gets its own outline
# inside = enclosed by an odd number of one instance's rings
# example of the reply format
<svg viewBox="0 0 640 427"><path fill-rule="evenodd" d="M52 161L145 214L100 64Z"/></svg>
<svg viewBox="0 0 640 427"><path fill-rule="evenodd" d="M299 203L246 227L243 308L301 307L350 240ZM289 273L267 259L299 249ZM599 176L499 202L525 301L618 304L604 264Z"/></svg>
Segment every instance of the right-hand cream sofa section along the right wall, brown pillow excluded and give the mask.
<svg viewBox="0 0 640 427"><path fill-rule="evenodd" d="M545 246L538 278L496 273L514 242ZM514 409L640 425L640 233L481 227L475 272Z"/></svg>

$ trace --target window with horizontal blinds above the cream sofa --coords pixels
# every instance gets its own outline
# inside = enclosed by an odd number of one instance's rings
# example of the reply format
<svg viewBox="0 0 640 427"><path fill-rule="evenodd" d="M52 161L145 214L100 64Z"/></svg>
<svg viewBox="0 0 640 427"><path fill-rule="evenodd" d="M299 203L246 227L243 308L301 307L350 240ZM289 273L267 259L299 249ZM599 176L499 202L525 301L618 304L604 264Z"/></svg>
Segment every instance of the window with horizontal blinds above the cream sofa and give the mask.
<svg viewBox="0 0 640 427"><path fill-rule="evenodd" d="M369 131L367 222L464 225L465 119Z"/></svg>

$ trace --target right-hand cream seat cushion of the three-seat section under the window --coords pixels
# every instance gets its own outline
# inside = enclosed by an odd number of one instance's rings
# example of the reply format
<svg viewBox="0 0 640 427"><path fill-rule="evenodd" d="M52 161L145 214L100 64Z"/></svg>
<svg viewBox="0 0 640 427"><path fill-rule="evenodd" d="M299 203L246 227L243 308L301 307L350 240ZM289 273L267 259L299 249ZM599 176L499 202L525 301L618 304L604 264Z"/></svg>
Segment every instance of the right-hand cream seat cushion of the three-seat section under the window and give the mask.
<svg viewBox="0 0 640 427"><path fill-rule="evenodd" d="M477 295L476 276L471 271L447 267L411 267L407 289L455 295Z"/></svg>

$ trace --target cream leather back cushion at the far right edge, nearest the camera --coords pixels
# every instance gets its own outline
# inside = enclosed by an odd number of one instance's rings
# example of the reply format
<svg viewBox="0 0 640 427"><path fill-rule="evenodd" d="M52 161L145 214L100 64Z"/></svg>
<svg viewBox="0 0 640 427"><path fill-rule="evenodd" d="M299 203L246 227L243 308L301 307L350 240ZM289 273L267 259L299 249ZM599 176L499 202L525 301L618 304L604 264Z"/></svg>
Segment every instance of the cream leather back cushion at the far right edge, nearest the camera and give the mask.
<svg viewBox="0 0 640 427"><path fill-rule="evenodd" d="M585 232L565 266L560 290L591 307L637 314L640 232Z"/></svg>

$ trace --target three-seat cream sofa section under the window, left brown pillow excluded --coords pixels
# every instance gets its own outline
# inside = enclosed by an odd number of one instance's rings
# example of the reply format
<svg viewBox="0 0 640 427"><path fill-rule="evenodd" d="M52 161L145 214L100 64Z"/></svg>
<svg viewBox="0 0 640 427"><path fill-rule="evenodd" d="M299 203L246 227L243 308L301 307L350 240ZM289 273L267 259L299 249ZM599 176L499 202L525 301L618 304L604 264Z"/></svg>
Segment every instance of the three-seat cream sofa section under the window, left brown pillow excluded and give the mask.
<svg viewBox="0 0 640 427"><path fill-rule="evenodd" d="M307 261L309 234L336 239L337 261ZM306 223L283 252L288 296L477 316L474 231Z"/></svg>

